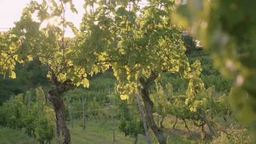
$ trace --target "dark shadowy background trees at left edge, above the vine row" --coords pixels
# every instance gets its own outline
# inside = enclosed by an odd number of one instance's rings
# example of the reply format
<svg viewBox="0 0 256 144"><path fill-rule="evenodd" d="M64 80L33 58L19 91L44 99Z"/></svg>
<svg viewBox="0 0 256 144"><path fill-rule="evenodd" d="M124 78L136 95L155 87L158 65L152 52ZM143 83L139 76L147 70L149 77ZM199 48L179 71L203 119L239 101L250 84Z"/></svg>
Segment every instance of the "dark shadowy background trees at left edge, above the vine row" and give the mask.
<svg viewBox="0 0 256 144"><path fill-rule="evenodd" d="M11 94L26 93L25 89L35 88L39 85L49 85L46 74L48 68L43 66L38 59L26 62L25 64L16 63L16 79L7 76L3 79L0 76L0 97L9 99ZM15 83L15 84L14 84ZM0 105L4 100L0 100Z"/></svg>

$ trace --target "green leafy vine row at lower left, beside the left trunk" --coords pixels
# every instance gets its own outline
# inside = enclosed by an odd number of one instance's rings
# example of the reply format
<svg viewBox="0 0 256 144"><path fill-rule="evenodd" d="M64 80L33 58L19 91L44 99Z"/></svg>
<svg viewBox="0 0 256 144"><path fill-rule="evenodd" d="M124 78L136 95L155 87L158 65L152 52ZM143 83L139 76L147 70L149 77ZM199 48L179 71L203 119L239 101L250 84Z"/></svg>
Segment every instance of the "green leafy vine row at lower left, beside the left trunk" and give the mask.
<svg viewBox="0 0 256 144"><path fill-rule="evenodd" d="M31 109L27 97L24 99L22 94L5 101L0 107L0 124L18 130L25 128L28 136L38 135L37 140L42 142L53 139L54 127L49 124L53 124L55 119L53 111L45 104L43 91L37 88L36 93L36 100L31 101Z"/></svg>

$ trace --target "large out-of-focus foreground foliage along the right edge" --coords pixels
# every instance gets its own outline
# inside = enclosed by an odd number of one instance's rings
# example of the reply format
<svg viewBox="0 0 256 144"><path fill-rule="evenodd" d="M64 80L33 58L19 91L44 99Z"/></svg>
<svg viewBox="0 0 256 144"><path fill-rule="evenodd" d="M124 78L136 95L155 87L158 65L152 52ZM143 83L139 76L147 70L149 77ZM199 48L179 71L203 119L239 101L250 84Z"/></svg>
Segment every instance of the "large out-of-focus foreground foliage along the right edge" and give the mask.
<svg viewBox="0 0 256 144"><path fill-rule="evenodd" d="M195 4L197 7L191 7ZM256 19L252 5L255 4L251 0L189 1L187 5L178 8L181 12L179 16L182 15L181 19L187 25L183 26L189 27L190 33L195 34L203 47L212 53L214 64L221 73L234 79L230 99L232 109L236 111L240 122L253 128L253 131L256 103Z"/></svg>

